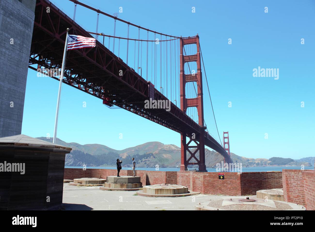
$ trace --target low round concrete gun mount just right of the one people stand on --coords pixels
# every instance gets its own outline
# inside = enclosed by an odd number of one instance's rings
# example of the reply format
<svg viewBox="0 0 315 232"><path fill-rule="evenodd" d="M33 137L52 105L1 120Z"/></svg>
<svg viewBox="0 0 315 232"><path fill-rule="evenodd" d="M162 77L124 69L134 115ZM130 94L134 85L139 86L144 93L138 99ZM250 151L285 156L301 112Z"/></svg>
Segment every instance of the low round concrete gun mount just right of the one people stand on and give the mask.
<svg viewBox="0 0 315 232"><path fill-rule="evenodd" d="M188 187L177 184L155 184L143 186L142 191L137 193L146 197L182 197L199 194L188 191Z"/></svg>

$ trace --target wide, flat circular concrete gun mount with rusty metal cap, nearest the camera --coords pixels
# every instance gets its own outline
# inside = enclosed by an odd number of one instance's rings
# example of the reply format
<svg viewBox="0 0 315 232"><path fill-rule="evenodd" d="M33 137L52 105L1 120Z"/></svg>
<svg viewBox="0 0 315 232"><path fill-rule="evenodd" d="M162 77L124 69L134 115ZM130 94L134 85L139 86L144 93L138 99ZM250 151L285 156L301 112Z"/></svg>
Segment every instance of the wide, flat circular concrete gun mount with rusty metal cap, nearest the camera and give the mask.
<svg viewBox="0 0 315 232"><path fill-rule="evenodd" d="M195 210L306 210L302 205L256 197L231 197L207 200L195 205ZM249 201L248 201L249 200Z"/></svg>

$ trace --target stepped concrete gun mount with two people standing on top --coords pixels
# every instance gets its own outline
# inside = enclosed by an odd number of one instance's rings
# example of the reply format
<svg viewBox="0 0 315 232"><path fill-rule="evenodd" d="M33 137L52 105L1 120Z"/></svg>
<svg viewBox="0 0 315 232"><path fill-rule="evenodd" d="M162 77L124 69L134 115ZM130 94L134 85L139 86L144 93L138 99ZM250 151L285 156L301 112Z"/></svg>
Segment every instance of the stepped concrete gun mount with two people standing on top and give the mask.
<svg viewBox="0 0 315 232"><path fill-rule="evenodd" d="M104 187L108 191L137 191L142 187L140 176L107 176Z"/></svg>

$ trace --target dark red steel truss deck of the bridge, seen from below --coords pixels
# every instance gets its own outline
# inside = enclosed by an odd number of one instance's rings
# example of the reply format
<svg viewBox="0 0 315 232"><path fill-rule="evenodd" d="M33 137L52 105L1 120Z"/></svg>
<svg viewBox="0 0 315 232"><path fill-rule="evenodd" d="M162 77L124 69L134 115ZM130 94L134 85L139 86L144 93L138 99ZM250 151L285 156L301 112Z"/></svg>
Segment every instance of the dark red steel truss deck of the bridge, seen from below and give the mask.
<svg viewBox="0 0 315 232"><path fill-rule="evenodd" d="M46 13L48 6L50 13ZM47 0L37 0L30 68L36 70L48 68L49 71L61 68L66 28L70 28L69 34L91 37L52 3ZM34 64L38 65L37 68L31 66ZM121 73L122 75L119 75ZM56 74L48 73L48 75L59 80ZM97 98L109 98L114 105L187 136L192 133L200 134L202 130L173 103L170 111L145 109L145 100L149 99L147 81L99 41L96 41L95 48L67 51L63 82ZM154 98L168 100L156 89L154 89ZM205 144L229 160L223 147L208 133L205 136Z"/></svg>

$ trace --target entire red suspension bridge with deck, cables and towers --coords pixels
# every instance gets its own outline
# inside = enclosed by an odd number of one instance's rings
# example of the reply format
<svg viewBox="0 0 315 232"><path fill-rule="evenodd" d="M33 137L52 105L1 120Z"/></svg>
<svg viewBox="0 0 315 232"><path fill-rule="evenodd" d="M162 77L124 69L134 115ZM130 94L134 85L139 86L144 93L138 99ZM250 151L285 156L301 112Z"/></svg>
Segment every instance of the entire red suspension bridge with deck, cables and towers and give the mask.
<svg viewBox="0 0 315 232"><path fill-rule="evenodd" d="M37 0L29 68L59 80L66 29L70 28L69 34L94 35L96 47L67 51L64 83L109 107L118 106L180 133L180 170L198 164L199 171L206 171L205 146L232 162L228 137L224 135L222 145L216 125L198 34L159 33L69 1L74 3L73 19L48 0ZM95 11L95 32L74 21L77 5ZM100 15L112 20L111 35L98 32ZM122 37L117 36L118 22L126 29ZM170 109L145 107L150 98L169 101Z"/></svg>

